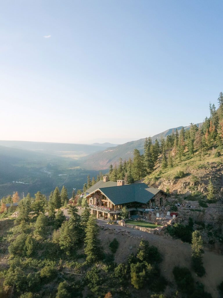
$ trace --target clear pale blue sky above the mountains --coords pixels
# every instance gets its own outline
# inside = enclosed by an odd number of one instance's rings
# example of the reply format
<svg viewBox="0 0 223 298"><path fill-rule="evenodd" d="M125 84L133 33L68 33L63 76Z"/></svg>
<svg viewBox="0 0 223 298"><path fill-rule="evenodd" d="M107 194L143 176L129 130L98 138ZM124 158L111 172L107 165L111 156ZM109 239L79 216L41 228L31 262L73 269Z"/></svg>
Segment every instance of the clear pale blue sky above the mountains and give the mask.
<svg viewBox="0 0 223 298"><path fill-rule="evenodd" d="M0 139L113 142L202 122L223 1L0 0Z"/></svg>

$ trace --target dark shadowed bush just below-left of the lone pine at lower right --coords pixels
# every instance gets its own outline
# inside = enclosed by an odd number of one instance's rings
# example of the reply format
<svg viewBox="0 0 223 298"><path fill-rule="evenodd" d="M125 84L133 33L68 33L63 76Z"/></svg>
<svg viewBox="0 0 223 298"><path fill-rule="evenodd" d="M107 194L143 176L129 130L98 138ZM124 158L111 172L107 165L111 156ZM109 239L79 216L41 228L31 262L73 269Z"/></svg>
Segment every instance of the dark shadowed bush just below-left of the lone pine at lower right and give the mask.
<svg viewBox="0 0 223 298"><path fill-rule="evenodd" d="M191 272L186 267L174 267L173 275L178 289L186 294L192 294L194 291L194 279Z"/></svg>

